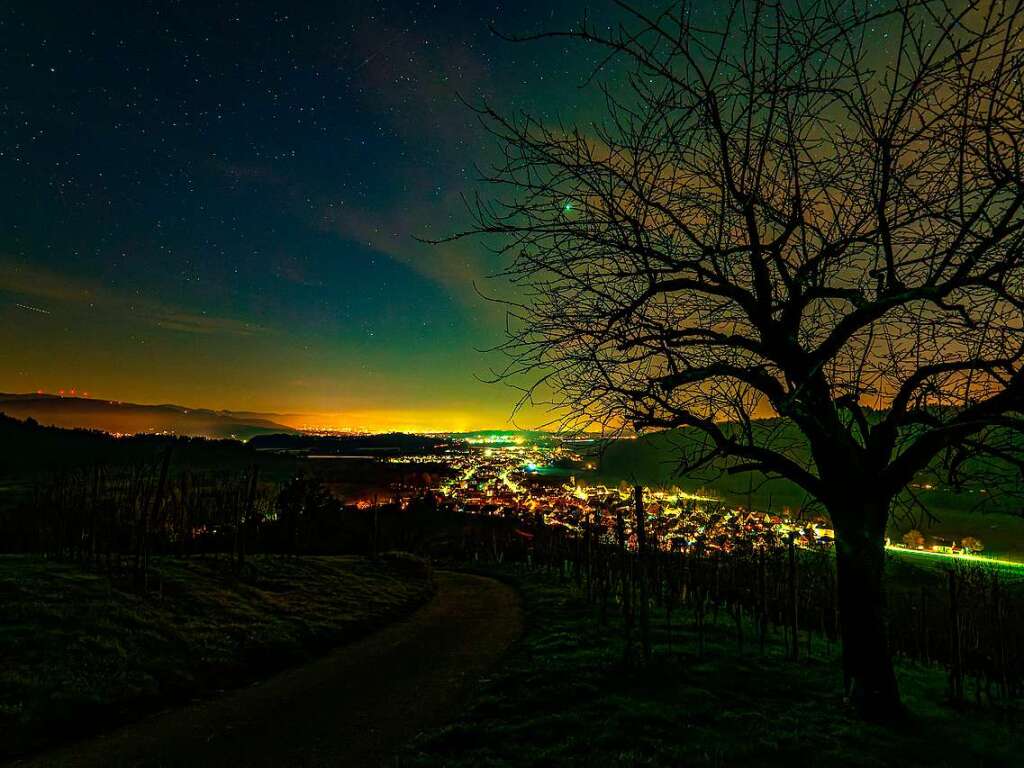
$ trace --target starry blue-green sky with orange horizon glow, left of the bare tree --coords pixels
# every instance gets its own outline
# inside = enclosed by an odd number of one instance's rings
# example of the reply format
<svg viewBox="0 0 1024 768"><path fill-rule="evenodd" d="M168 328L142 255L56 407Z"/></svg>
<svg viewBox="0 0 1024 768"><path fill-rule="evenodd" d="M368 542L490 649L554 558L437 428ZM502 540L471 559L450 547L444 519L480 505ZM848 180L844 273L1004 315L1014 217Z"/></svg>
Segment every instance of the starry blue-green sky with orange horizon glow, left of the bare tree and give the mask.
<svg viewBox="0 0 1024 768"><path fill-rule="evenodd" d="M592 19L614 20L605 0ZM4 3L0 391L370 429L508 424L485 384L500 265L460 196L494 152L459 101L581 119L597 50L496 37L584 6ZM523 426L529 426L529 415Z"/></svg>

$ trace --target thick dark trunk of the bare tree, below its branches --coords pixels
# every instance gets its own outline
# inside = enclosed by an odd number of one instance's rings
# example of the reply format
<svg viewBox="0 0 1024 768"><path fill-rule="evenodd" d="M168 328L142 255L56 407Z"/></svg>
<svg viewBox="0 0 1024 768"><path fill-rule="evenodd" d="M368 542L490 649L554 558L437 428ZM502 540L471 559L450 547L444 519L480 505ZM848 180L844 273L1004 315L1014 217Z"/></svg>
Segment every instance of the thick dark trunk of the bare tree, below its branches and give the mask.
<svg viewBox="0 0 1024 768"><path fill-rule="evenodd" d="M886 628L885 527L837 525L836 537L846 693L865 719L891 722L903 710Z"/></svg>

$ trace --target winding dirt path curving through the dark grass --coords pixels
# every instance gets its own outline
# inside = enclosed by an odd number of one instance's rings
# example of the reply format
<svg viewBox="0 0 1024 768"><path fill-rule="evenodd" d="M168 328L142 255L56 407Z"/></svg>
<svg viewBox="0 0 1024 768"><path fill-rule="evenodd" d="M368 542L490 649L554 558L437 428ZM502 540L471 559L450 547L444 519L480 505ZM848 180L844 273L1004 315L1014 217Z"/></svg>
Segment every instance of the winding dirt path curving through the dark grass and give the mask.
<svg viewBox="0 0 1024 768"><path fill-rule="evenodd" d="M519 600L439 572L409 618L223 697L155 715L23 766L374 766L452 719L519 636Z"/></svg>

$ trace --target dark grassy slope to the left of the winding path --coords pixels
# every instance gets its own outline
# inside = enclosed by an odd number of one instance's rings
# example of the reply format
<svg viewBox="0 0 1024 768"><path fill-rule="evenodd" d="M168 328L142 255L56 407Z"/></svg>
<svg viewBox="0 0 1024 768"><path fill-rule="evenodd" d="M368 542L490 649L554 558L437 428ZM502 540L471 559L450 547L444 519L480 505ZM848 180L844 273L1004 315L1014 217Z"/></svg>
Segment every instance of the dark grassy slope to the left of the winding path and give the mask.
<svg viewBox="0 0 1024 768"><path fill-rule="evenodd" d="M412 558L159 558L139 595L105 575L0 557L0 756L238 685L408 612Z"/></svg>

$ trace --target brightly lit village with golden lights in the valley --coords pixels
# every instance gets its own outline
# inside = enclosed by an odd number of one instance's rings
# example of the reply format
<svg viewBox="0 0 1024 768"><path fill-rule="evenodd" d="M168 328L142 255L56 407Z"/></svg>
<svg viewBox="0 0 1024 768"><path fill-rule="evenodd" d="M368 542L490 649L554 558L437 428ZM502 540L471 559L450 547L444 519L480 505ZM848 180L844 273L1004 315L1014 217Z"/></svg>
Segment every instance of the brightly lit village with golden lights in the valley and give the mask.
<svg viewBox="0 0 1024 768"><path fill-rule="evenodd" d="M536 444L515 434L495 434L466 439L462 447L428 456L404 456L388 460L402 464L439 464L451 475L431 490L454 511L512 517L524 523L542 522L572 532L583 532L588 523L604 531L607 543L616 534L620 515L627 545L635 549L634 489L626 483L608 486L590 481L596 460L588 460L564 444ZM422 488L393 488L402 504ZM737 547L759 548L791 539L802 548L827 548L835 530L823 516L798 519L783 508L782 514L730 506L717 496L678 487L644 490L648 537L664 551L700 546L705 551L732 551ZM359 506L371 506L364 501ZM974 550L968 543L975 543ZM993 561L982 557L980 542L966 537L964 543L926 540L912 531L905 540L887 541L896 553L957 557ZM1001 561L999 561L1001 562ZM1008 563L1016 564L1016 563Z"/></svg>

